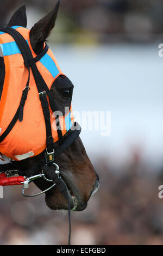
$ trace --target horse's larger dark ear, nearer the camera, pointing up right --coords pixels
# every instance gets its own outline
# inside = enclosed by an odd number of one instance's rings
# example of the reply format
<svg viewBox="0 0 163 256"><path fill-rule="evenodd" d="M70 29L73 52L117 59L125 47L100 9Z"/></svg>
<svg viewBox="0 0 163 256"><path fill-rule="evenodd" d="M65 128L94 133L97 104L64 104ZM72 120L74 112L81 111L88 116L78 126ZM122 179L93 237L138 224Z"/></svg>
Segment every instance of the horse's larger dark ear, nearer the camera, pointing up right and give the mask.
<svg viewBox="0 0 163 256"><path fill-rule="evenodd" d="M59 5L60 1L58 1L51 13L43 17L30 30L30 44L32 45L32 48L36 54L39 54L39 52L42 50L43 43L45 42L55 25Z"/></svg>

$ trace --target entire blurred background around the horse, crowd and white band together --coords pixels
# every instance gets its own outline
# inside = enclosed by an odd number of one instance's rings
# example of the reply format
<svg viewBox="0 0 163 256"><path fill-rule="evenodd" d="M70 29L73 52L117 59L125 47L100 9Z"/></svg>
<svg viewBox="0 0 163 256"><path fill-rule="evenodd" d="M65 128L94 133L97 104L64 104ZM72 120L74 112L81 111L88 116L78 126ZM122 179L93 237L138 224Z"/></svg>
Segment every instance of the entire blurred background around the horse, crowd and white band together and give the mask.
<svg viewBox="0 0 163 256"><path fill-rule="evenodd" d="M55 2L1 1L0 23L26 4L31 28ZM62 0L48 41L74 84L74 111L111 112L110 136L81 133L101 186L72 212L72 244L163 244L163 1ZM0 207L1 245L67 244L67 213L48 209L44 196L5 187Z"/></svg>

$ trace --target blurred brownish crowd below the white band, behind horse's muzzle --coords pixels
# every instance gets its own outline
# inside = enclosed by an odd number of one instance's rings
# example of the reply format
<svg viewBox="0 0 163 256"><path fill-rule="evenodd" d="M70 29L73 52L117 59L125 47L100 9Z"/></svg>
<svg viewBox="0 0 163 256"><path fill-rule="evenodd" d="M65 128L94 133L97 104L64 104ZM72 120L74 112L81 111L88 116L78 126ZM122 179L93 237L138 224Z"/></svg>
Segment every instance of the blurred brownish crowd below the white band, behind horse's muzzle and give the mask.
<svg viewBox="0 0 163 256"><path fill-rule="evenodd" d="M142 162L137 153L121 168L106 159L94 165L101 186L86 210L72 212L72 244L162 245L162 170ZM23 198L20 186L5 187L0 205L1 245L67 244L67 212L48 209L44 196Z"/></svg>

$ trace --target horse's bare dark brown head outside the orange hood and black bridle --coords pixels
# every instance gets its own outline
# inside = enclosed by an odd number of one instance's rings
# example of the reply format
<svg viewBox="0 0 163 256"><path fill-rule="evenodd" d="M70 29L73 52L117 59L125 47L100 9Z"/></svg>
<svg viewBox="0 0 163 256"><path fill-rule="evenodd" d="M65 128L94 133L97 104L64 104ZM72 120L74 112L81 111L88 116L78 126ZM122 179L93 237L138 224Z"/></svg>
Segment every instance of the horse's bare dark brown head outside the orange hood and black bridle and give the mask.
<svg viewBox="0 0 163 256"><path fill-rule="evenodd" d="M57 3L55 8L48 15L35 23L30 30L30 44L36 55L42 51L45 41L55 25L59 4L60 2ZM24 5L12 15L8 27L12 26L27 26L26 7ZM71 107L73 83L68 77L60 75L52 84L51 93L55 99L57 110L66 114L65 107L68 109ZM45 125L43 122L42 120L42 125ZM64 138L67 138L70 133L71 130L65 134ZM56 142L55 148L57 148L58 145L59 142ZM37 156L20 161L19 163L22 170L32 168L44 157L44 154L45 153L42 152ZM68 148L55 157L55 163L58 164L61 178L67 185L71 209L74 211L84 210L92 194L98 190L99 177L86 154L80 137L76 138ZM49 183L43 179L37 179L34 183L42 191L49 187ZM45 201L47 206L53 210L67 210L67 202L55 186L52 190L46 192Z"/></svg>

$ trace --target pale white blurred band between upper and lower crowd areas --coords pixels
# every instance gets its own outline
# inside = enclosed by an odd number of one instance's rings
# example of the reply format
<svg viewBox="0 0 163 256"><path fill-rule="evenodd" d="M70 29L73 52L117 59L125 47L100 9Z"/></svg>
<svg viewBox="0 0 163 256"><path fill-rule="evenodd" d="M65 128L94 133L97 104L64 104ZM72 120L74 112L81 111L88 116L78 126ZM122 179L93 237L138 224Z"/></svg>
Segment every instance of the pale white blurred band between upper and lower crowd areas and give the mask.
<svg viewBox="0 0 163 256"><path fill-rule="evenodd" d="M136 146L142 157L161 162L163 57L158 56L158 44L62 45L52 50L74 83L73 109L111 111L109 137L99 131L81 133L87 152L125 160Z"/></svg>

